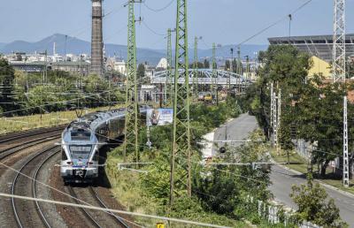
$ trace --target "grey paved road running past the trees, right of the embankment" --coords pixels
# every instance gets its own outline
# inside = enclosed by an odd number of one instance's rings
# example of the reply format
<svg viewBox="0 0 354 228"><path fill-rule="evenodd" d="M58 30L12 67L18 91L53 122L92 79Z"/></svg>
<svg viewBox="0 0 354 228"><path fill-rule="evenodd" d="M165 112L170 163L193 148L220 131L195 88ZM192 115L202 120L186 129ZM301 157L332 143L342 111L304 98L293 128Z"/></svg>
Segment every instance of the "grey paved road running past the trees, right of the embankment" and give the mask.
<svg viewBox="0 0 354 228"><path fill-rule="evenodd" d="M214 141L242 141L247 138L250 132L258 127L256 118L248 114L242 114L239 118L222 125L214 134ZM280 166L273 166L271 173L273 184L269 189L274 194L277 201L282 202L290 208L296 208L296 205L289 197L292 185L305 183L304 176L297 175L292 171L287 171ZM331 188L326 187L327 194L335 199L335 205L341 209L342 219L354 228L354 198L346 194L339 193Z"/></svg>

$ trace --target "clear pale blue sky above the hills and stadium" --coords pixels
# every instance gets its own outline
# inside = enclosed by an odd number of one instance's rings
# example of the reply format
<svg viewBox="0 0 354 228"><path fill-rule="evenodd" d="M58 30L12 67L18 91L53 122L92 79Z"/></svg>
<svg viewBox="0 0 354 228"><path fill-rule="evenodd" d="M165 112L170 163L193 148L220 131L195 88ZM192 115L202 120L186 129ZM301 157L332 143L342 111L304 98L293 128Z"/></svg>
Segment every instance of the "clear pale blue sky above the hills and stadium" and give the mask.
<svg viewBox="0 0 354 228"><path fill-rule="evenodd" d="M173 0L172 0L173 1ZM294 11L307 0L189 0L189 41L203 36L200 48L210 48L212 42L237 44L274 21ZM104 42L127 43L127 0L104 0ZM145 0L135 4L135 12L143 18L137 24L137 45L165 49L164 35L175 27L173 1ZM149 9L150 8L150 9ZM331 34L333 30L333 0L312 0L293 16L292 34ZM347 0L347 9L354 9L354 0ZM111 13L110 13L111 12ZM8 0L0 8L0 42L39 41L51 34L68 34L89 41L90 0ZM347 10L347 32L354 33L354 12ZM5 22L5 23L4 23ZM250 44L266 44L267 37L288 35L289 21L283 20ZM152 31L151 31L152 30Z"/></svg>

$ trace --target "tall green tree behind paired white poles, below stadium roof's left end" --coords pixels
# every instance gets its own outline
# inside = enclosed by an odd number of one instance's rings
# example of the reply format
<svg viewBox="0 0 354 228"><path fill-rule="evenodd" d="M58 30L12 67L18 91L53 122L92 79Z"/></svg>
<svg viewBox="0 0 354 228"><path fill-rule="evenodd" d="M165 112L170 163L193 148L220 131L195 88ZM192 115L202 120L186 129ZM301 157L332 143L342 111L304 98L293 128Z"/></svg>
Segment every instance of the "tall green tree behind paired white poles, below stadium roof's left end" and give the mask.
<svg viewBox="0 0 354 228"><path fill-rule="evenodd" d="M248 108L269 136L271 130L269 121L271 83L273 82L276 93L279 92L278 88L281 88L281 146L291 148L289 125L296 122L294 118L296 117L294 116L296 109L294 109L293 103L301 99L306 87L306 75L312 64L310 57L290 45L271 45L266 51L261 51L258 58L259 63L263 65L259 69L258 80L247 90L242 99L247 99L247 103L253 103ZM246 102L242 103L245 105Z"/></svg>

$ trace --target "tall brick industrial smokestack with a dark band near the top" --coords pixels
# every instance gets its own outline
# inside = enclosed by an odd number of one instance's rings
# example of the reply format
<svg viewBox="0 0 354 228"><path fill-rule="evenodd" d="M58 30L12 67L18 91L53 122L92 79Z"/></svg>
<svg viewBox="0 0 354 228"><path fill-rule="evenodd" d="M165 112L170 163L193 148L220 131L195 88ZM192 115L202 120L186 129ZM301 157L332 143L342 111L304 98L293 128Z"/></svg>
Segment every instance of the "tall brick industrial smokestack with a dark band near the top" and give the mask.
<svg viewBox="0 0 354 228"><path fill-rule="evenodd" d="M104 75L102 0L92 0L91 73Z"/></svg>

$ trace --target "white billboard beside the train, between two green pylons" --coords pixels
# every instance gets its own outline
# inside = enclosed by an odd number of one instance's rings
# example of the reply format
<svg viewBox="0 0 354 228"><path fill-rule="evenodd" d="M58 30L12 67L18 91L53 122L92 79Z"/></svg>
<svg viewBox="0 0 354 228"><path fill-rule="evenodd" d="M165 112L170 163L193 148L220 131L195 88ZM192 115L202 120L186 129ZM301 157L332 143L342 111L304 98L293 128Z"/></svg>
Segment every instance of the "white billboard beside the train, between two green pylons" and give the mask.
<svg viewBox="0 0 354 228"><path fill-rule="evenodd" d="M149 109L146 125L170 125L173 124L173 109Z"/></svg>

